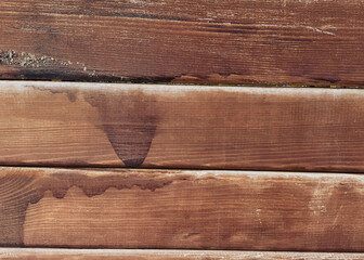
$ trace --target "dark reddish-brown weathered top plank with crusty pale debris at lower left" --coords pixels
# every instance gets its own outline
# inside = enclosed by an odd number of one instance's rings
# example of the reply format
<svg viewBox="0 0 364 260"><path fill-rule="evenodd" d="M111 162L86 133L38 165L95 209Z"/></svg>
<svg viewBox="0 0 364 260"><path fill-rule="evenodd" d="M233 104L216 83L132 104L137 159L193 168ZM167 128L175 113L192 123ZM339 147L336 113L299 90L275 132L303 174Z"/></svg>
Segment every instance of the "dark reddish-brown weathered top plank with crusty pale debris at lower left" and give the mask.
<svg viewBox="0 0 364 260"><path fill-rule="evenodd" d="M362 0L1 0L0 77L364 84Z"/></svg>

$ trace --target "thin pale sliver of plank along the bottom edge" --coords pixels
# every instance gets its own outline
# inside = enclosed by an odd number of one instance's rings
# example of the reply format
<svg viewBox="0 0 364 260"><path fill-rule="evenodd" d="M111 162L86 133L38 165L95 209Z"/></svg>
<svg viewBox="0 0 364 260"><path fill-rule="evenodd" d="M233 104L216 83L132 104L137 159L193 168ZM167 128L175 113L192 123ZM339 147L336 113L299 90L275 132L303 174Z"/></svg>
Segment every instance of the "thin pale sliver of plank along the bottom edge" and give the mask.
<svg viewBox="0 0 364 260"><path fill-rule="evenodd" d="M3 260L362 260L364 253L0 248L0 258Z"/></svg>

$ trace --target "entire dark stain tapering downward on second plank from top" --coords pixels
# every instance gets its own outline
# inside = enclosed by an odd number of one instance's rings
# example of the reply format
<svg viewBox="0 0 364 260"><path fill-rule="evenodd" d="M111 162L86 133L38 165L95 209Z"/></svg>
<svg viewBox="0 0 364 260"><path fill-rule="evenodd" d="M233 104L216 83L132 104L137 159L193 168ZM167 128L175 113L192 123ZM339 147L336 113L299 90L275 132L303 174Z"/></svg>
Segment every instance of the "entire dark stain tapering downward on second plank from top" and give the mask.
<svg viewBox="0 0 364 260"><path fill-rule="evenodd" d="M31 87L34 88L34 87ZM77 102L80 94L99 110L101 129L107 135L116 155L127 167L139 167L145 160L158 125L157 102L143 90L40 88L52 94L66 94ZM94 118L92 118L93 123Z"/></svg>

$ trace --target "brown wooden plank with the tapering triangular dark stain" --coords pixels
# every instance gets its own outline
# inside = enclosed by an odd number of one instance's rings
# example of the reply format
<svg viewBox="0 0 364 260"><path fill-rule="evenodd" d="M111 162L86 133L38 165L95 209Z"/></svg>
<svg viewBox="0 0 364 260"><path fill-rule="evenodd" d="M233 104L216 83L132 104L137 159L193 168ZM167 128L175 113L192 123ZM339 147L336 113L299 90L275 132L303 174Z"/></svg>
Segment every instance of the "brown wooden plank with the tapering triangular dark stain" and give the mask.
<svg viewBox="0 0 364 260"><path fill-rule="evenodd" d="M0 164L364 171L364 91L0 82Z"/></svg>

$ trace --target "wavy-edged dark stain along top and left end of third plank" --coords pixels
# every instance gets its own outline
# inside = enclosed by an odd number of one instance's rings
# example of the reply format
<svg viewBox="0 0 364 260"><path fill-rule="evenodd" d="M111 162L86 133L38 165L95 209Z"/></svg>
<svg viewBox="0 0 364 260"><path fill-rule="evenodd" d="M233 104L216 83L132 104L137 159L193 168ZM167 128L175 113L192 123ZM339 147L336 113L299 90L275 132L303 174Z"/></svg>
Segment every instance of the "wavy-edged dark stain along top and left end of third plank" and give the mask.
<svg viewBox="0 0 364 260"><path fill-rule="evenodd" d="M62 199L70 187L77 186L88 197L102 195L106 190L139 187L154 192L187 176L160 173L128 173L88 176L80 171L60 171L42 174L42 170L0 170L0 246L24 246L23 226L29 204L37 204L47 191Z"/></svg>

